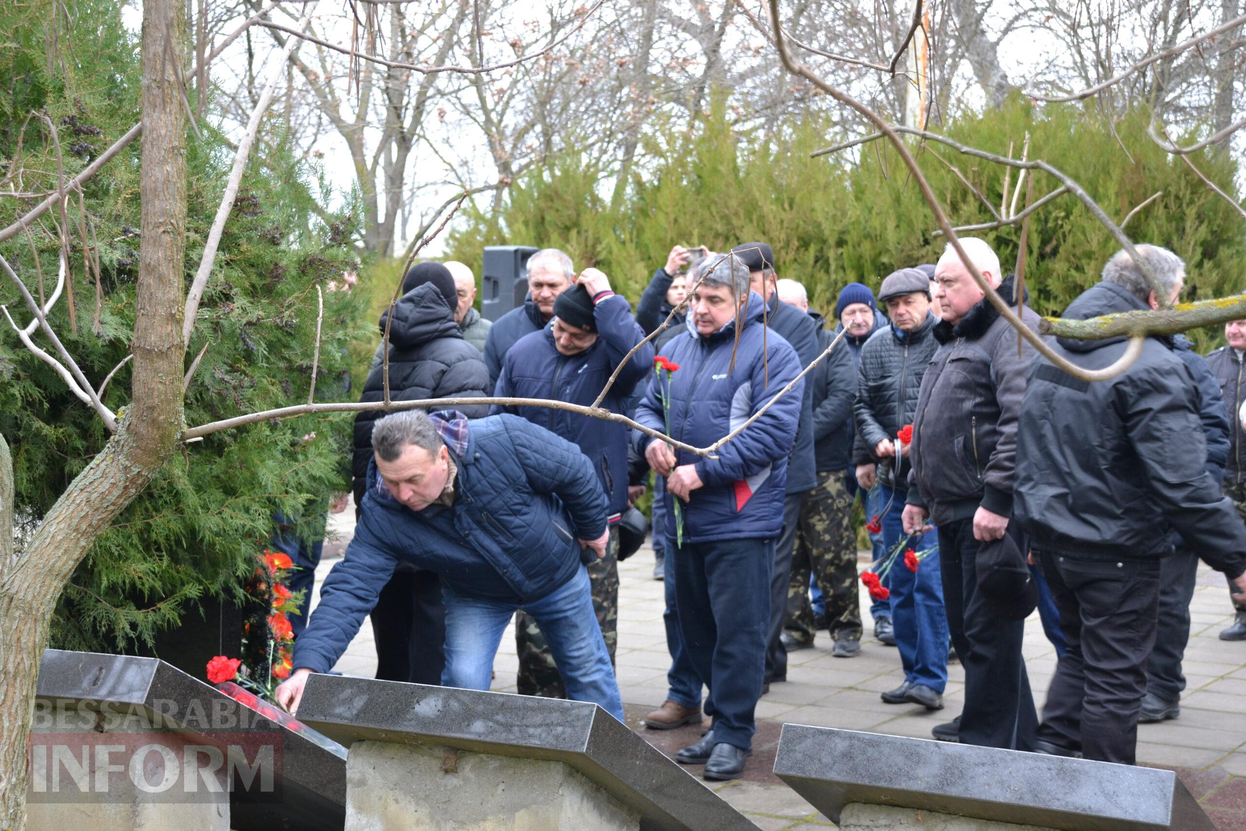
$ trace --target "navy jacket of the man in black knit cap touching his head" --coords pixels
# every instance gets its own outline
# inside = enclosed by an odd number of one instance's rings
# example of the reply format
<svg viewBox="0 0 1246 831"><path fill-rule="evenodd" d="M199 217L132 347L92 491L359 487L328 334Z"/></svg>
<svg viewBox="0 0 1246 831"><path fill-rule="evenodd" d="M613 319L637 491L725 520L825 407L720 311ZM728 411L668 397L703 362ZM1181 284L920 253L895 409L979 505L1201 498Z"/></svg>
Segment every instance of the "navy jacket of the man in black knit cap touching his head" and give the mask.
<svg viewBox="0 0 1246 831"><path fill-rule="evenodd" d="M632 306L621 294L598 299L593 305L593 318L597 320L597 340L574 355L558 351L548 325L520 338L506 353L493 395L591 405L601 395L614 368L644 340L644 331L632 318ZM652 369L653 346L645 344L619 371L602 406L627 415L635 386ZM495 404L490 415L498 412L522 416L578 445L597 470L609 501L609 512L627 511L627 444L630 432L627 425L552 407L503 407Z"/></svg>

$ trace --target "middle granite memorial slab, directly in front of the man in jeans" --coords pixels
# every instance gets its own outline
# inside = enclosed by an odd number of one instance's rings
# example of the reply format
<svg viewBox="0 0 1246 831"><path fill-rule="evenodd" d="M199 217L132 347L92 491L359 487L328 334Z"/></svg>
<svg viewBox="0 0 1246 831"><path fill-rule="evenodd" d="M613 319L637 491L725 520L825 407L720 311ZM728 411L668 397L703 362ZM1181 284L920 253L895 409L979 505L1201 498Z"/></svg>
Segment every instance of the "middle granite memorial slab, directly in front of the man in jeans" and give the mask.
<svg viewBox="0 0 1246 831"><path fill-rule="evenodd" d="M312 675L299 719L348 748L371 740L561 761L638 811L645 831L756 831L596 704Z"/></svg>

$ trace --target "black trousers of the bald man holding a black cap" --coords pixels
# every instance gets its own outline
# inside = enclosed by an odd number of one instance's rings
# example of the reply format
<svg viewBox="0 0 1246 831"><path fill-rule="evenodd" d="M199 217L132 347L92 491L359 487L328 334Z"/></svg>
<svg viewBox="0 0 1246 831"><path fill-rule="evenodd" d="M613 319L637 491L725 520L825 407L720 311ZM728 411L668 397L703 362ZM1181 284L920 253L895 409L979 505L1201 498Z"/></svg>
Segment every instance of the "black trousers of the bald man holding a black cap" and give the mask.
<svg viewBox="0 0 1246 831"><path fill-rule="evenodd" d="M1008 527L1024 551L1017 523ZM982 598L977 572L981 547L973 538L973 520L938 527L943 605L952 645L964 668L961 744L1033 750L1038 714L1020 653L1025 622L999 617Z"/></svg>

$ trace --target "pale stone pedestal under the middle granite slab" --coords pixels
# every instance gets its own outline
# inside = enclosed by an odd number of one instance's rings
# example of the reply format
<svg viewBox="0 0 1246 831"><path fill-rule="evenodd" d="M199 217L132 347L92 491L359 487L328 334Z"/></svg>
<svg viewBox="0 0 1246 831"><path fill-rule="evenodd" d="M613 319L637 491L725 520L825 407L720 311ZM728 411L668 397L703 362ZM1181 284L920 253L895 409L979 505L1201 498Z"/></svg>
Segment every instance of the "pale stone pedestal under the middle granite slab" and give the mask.
<svg viewBox="0 0 1246 831"><path fill-rule="evenodd" d="M640 815L561 761L359 741L346 831L635 831Z"/></svg>

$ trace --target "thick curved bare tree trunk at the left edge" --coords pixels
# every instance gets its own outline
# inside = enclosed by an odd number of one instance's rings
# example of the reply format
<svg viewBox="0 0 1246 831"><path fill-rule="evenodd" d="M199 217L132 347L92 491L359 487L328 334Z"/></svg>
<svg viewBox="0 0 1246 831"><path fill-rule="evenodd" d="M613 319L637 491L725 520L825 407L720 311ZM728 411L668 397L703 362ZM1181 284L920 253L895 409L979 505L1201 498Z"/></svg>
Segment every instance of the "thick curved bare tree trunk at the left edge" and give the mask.
<svg viewBox="0 0 1246 831"><path fill-rule="evenodd" d="M168 60L166 37L172 39ZM51 507L21 554L0 561L0 826L16 831L26 826L26 741L56 602L86 551L172 455L182 430L186 113L174 66L183 62L184 41L184 0L143 2L133 401L117 432ZM2 461L0 496L11 476ZM0 507L0 513L6 510ZM11 533L0 552L7 546Z"/></svg>

